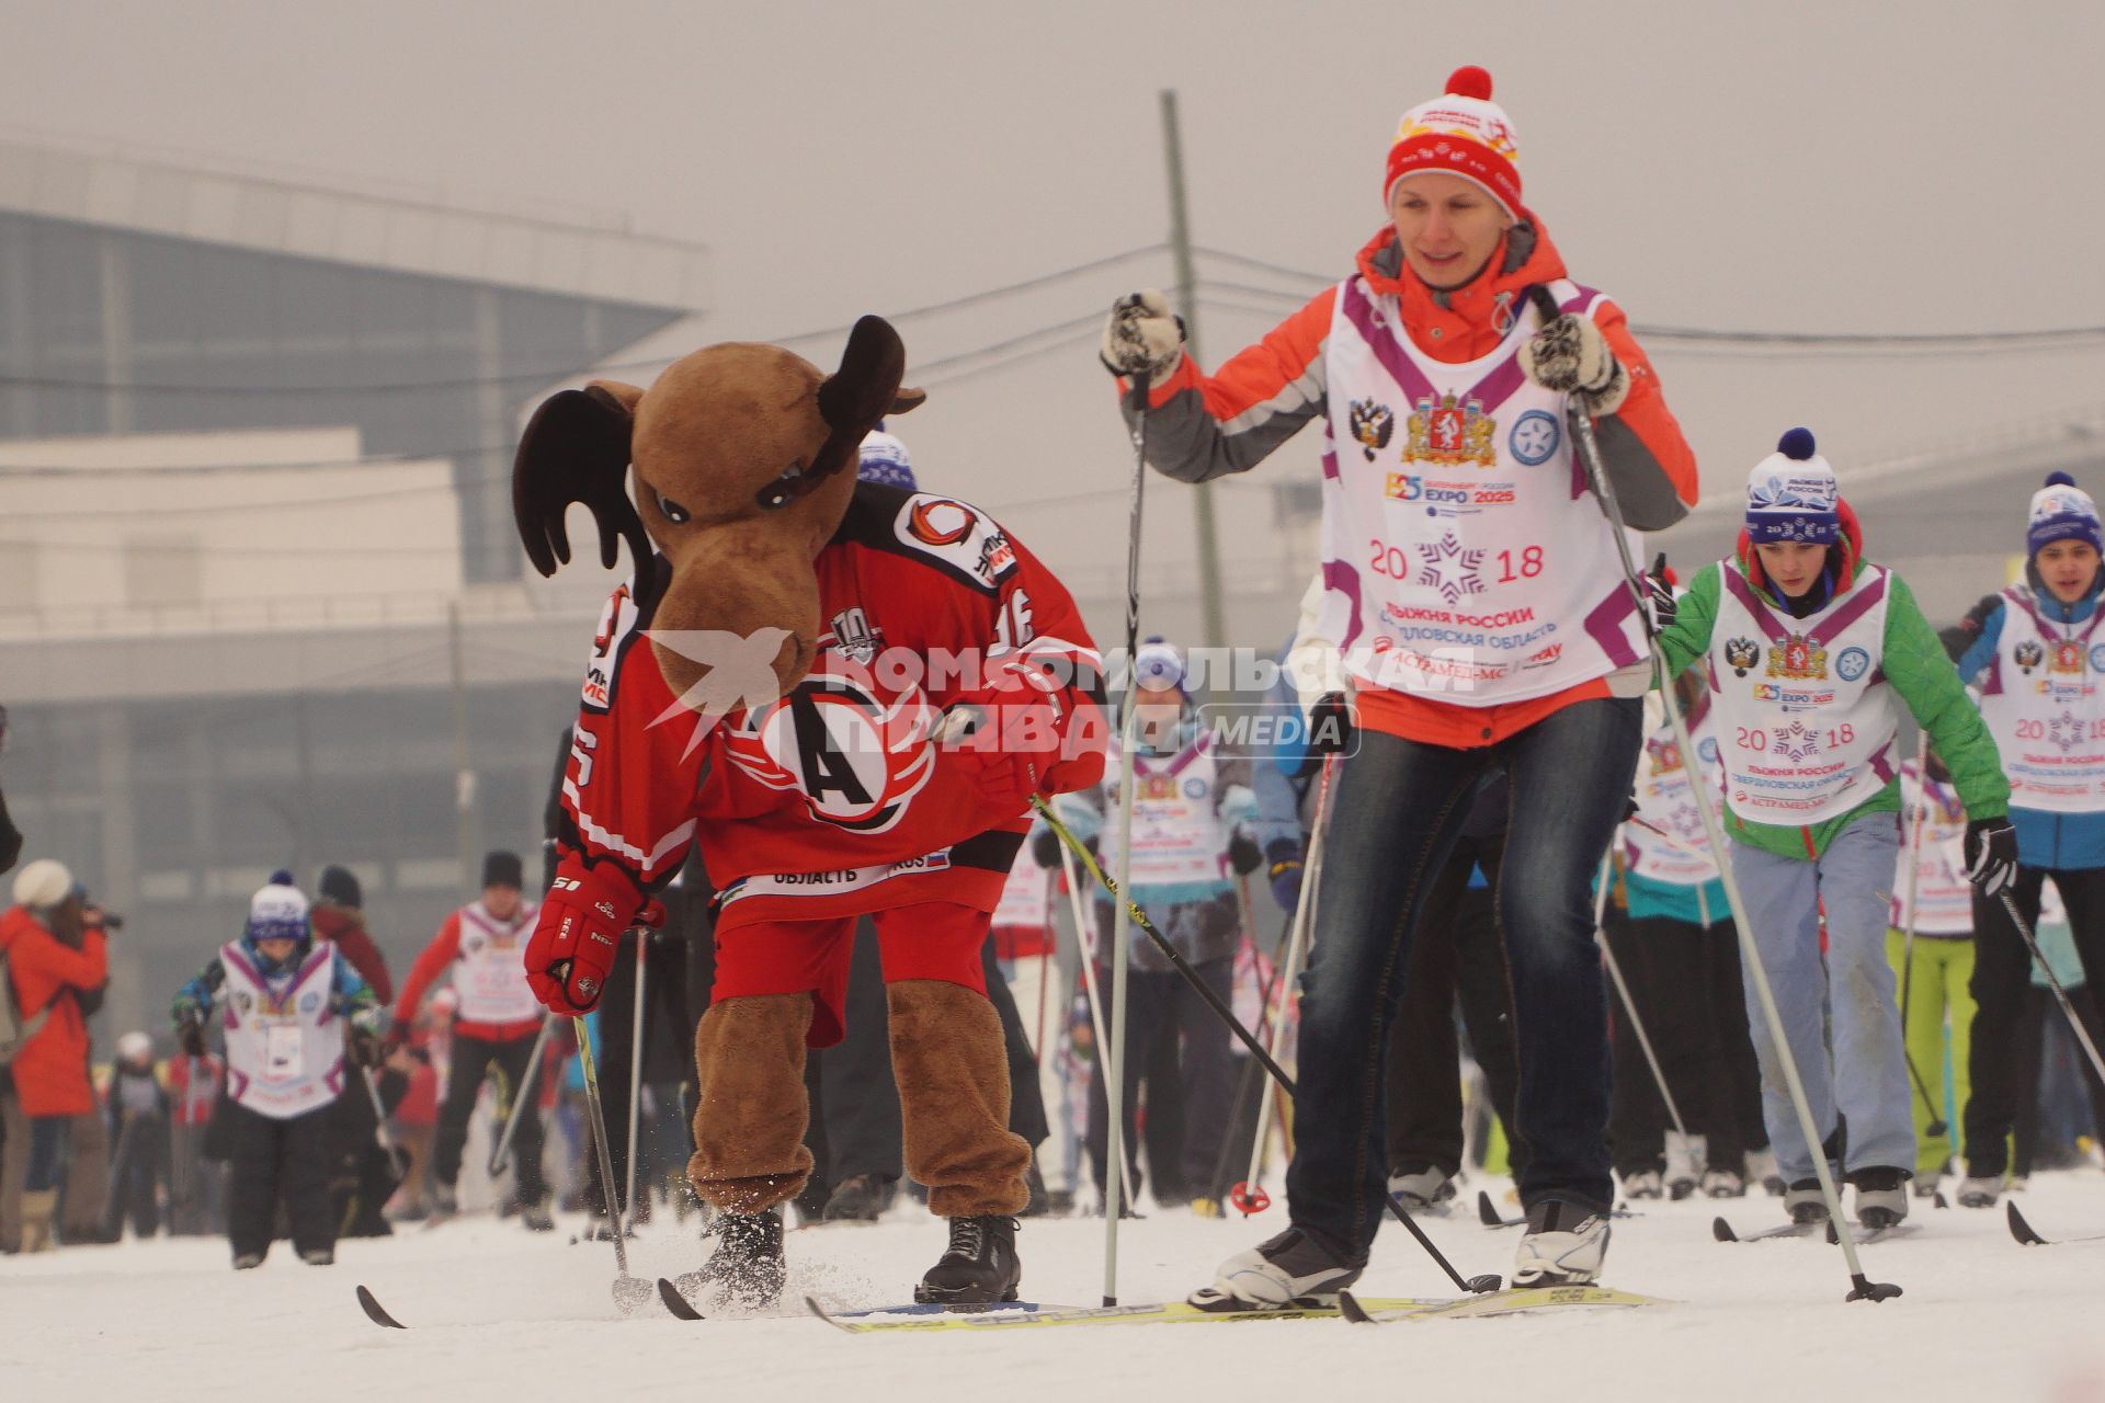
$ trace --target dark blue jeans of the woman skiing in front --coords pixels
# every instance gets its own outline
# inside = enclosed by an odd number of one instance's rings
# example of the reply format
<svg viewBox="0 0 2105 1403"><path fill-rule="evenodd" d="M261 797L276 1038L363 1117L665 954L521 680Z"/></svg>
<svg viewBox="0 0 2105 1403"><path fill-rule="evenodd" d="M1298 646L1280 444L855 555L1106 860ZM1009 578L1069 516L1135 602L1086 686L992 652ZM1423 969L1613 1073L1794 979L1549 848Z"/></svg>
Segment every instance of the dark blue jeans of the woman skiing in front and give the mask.
<svg viewBox="0 0 2105 1403"><path fill-rule="evenodd" d="M1484 749L1379 732L1343 764L1316 940L1301 982L1301 1075L1286 1195L1295 1226L1364 1258L1383 1218L1383 1043L1404 995L1410 932L1478 780L1511 785L1499 926L1520 1052L1520 1197L1606 1209L1608 1012L1591 883L1638 768L1642 705L1583 700Z"/></svg>

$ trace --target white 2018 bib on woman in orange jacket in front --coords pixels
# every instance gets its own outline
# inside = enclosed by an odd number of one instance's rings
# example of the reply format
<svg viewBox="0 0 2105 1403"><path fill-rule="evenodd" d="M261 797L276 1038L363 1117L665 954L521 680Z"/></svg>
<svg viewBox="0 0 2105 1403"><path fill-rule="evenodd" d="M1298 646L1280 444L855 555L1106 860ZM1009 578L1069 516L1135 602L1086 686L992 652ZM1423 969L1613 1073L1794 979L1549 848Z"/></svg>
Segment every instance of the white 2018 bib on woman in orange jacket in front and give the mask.
<svg viewBox="0 0 2105 1403"><path fill-rule="evenodd" d="M1604 303L1570 282L1549 292L1579 316ZM1318 633L1364 686L1490 707L1644 656L1615 532L1579 501L1564 395L1520 370L1539 326L1522 307L1490 355L1450 366L1417 349L1396 297L1339 284Z"/></svg>

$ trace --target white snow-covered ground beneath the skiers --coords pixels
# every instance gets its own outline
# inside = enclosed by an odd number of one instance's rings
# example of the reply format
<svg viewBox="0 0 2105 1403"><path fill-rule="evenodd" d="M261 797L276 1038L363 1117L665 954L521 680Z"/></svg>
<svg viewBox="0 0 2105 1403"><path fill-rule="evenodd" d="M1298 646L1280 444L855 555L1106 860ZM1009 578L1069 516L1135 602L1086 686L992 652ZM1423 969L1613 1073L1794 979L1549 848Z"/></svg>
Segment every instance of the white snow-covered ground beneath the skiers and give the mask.
<svg viewBox="0 0 2105 1403"><path fill-rule="evenodd" d="M1503 1188L1503 1184L1495 1186ZM1471 1195L1465 1195L1471 1197ZM2019 1197L2046 1237L2105 1233L2105 1176L2050 1174ZM11 1399L2105 1399L2105 1241L2021 1247L1996 1212L1918 1212L1907 1239L1865 1247L1901 1300L1844 1304L1842 1254L1817 1241L1722 1245L1772 1199L1646 1205L1615 1228L1608 1283L1684 1304L1488 1321L1050 1327L846 1336L794 1304L907 1300L943 1245L918 1207L878 1226L789 1237L781 1319L619 1319L606 1243L570 1224L535 1237L463 1218L349 1241L337 1266L286 1243L255 1273L221 1241L152 1241L0 1260L0 1376ZM1120 1294L1177 1298L1212 1264L1282 1226L1156 1212L1120 1239ZM1463 1273L1507 1273L1513 1235L1474 1212L1427 1222ZM1103 1222L1031 1220L1027 1296L1095 1304ZM695 1266L693 1226L667 1216L632 1247L638 1275ZM408 1331L352 1300L366 1283ZM1396 1226L1366 1296L1440 1296L1446 1281Z"/></svg>

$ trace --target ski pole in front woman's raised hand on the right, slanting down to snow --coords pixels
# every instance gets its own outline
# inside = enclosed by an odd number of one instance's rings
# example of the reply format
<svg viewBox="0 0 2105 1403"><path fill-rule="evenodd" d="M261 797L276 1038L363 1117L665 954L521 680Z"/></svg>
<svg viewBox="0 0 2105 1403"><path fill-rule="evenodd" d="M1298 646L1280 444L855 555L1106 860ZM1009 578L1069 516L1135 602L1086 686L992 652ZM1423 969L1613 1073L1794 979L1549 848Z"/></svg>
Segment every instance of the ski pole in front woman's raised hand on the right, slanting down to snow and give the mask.
<svg viewBox="0 0 2105 1403"><path fill-rule="evenodd" d="M1537 311L1547 322L1560 316L1556 299L1549 290L1537 286L1532 290ZM1646 606L1644 576L1638 570L1638 562L1629 551L1629 528L1623 524L1623 507L1615 496L1615 482L1608 477L1608 469L1600 461L1600 444L1593 440L1593 419L1587 414L1585 406L1577 400L1566 398L1564 419L1570 425L1572 440L1579 444L1579 459L1585 463L1587 480L1593 486L1593 499L1600 503L1602 513L1608 517L1608 528L1615 536L1615 549L1623 562L1623 585L1629 587L1631 604L1638 608L1638 623L1644 629L1646 648L1652 654L1652 667L1657 669L1655 682L1659 684L1659 698L1665 703L1667 719L1673 724L1673 743L1682 747L1682 755L1695 755L1695 745L1688 738L1688 719L1682 715L1682 703L1673 694L1673 677L1667 673L1667 652L1659 644L1659 633L1652 629L1652 618ZM1703 816L1703 837L1718 854L1718 877L1724 881L1724 898L1732 909L1732 930L1739 934L1739 949L1745 961L1747 982L1753 987L1756 1003L1762 1005L1762 1018L1768 1022L1768 1035L1777 1043L1777 1060L1783 1066L1783 1083L1791 1094L1791 1109L1798 1115L1798 1127L1806 1138L1806 1146L1812 1151L1812 1172L1821 1180L1821 1199L1827 1205L1827 1220L1842 1222L1842 1195L1836 1188L1833 1172L1827 1165L1827 1155L1823 1146L1827 1138L1812 1123L1812 1104L1806 1100L1806 1083L1798 1075L1798 1058L1791 1056L1791 1043L1783 1026L1783 1014L1777 1012L1777 995L1768 987L1768 970L1762 968L1762 951L1753 942L1753 926L1747 919L1747 902L1741 900L1739 879L1732 875L1732 862L1724 848L1724 825L1718 812L1711 808L1711 795L1707 785L1697 785L1697 812ZM1857 1239L1850 1233L1836 1233L1836 1241L1842 1247L1842 1260L1848 1264L1850 1292L1844 1300L1890 1300L1901 1294L1899 1285L1871 1281L1863 1275L1863 1262L1857 1258Z"/></svg>

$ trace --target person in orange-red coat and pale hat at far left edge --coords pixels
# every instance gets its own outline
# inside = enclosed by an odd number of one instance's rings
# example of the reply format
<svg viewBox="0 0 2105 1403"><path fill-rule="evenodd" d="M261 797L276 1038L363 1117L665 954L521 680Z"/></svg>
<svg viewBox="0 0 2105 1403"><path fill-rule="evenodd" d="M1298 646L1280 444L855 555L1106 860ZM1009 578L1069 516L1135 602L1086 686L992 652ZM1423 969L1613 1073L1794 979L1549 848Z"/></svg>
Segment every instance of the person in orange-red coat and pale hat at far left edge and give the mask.
<svg viewBox="0 0 2105 1403"><path fill-rule="evenodd" d="M38 858L15 875L15 904L0 915L0 963L13 1014L13 1037L0 1045L13 1079L8 1142L27 1146L8 1155L0 1184L0 1245L51 1252L67 1125L95 1113L80 995L109 974L103 913L63 862Z"/></svg>

